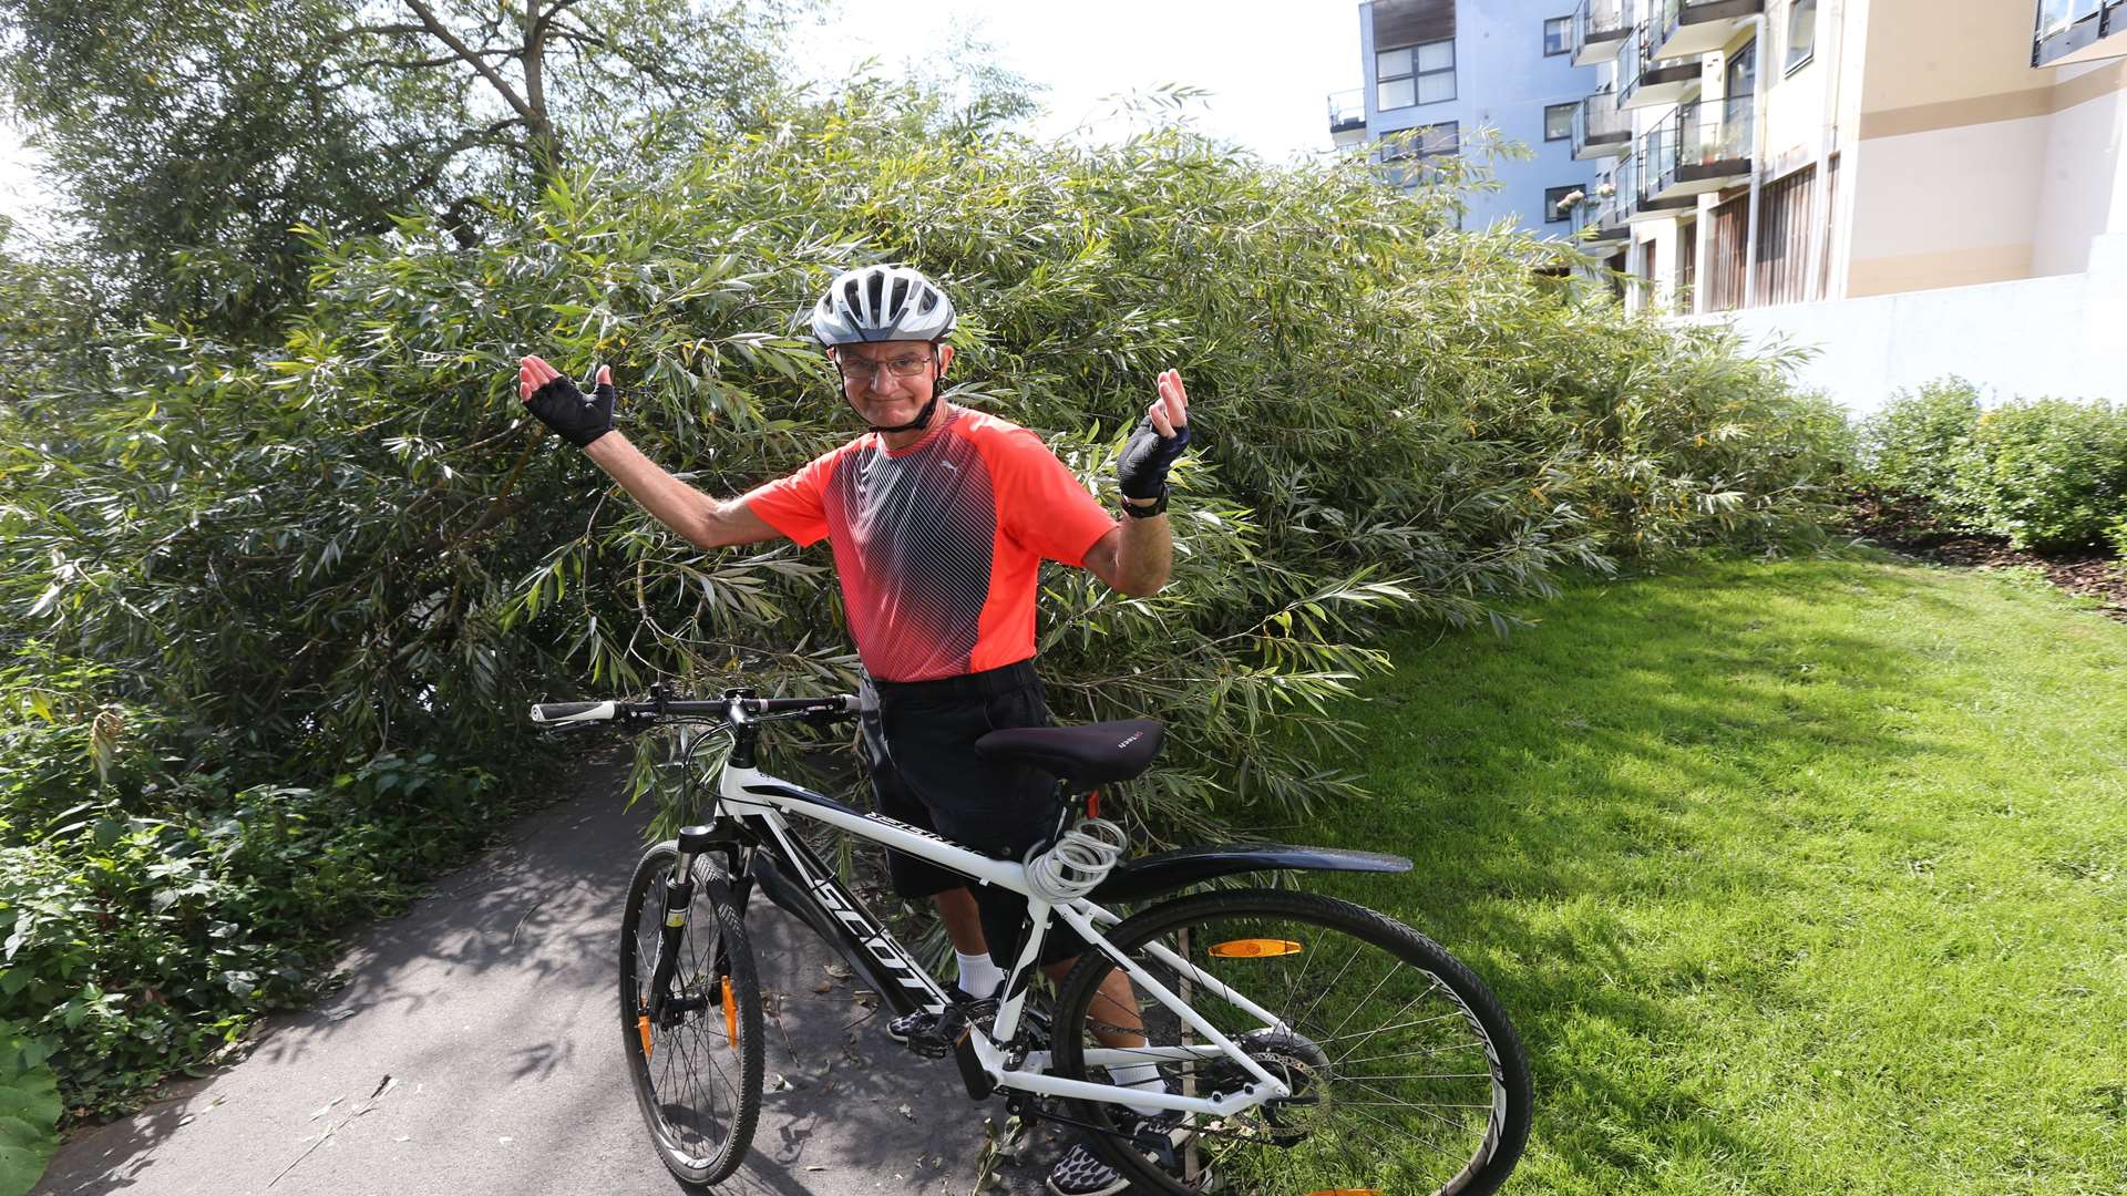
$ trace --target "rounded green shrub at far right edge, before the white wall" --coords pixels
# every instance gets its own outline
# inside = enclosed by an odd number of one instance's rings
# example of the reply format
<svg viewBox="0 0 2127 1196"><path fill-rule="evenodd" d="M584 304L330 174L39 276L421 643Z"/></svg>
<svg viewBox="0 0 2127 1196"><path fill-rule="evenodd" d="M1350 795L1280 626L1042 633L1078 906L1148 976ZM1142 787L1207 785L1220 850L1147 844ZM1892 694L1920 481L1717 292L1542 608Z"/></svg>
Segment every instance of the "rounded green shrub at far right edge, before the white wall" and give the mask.
<svg viewBox="0 0 2127 1196"><path fill-rule="evenodd" d="M2016 547L2099 545L2127 506L2127 411L2059 398L1987 411L1950 458L1950 494Z"/></svg>

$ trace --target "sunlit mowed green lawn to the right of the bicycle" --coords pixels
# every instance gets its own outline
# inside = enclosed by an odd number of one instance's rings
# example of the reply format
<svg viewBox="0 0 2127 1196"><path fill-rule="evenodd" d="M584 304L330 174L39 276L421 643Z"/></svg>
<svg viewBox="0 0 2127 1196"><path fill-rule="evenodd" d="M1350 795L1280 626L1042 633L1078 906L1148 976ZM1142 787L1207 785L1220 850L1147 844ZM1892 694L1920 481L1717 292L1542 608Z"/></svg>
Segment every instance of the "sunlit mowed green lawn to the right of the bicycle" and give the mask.
<svg viewBox="0 0 2127 1196"><path fill-rule="evenodd" d="M2127 626L1878 560L1531 615L1400 645L1304 836L1521 1028L1508 1192L2127 1192Z"/></svg>

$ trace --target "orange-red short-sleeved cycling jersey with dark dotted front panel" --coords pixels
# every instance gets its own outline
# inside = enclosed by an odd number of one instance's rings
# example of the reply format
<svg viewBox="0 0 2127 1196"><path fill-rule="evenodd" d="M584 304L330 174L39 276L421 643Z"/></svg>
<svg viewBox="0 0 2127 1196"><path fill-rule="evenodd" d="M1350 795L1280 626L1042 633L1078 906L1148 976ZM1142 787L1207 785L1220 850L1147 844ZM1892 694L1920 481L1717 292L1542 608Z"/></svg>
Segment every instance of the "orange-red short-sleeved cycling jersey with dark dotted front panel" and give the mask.
<svg viewBox="0 0 2127 1196"><path fill-rule="evenodd" d="M744 502L800 545L830 538L849 632L881 681L1032 658L1040 562L1085 564L1115 528L1040 436L959 406L906 449L868 432Z"/></svg>

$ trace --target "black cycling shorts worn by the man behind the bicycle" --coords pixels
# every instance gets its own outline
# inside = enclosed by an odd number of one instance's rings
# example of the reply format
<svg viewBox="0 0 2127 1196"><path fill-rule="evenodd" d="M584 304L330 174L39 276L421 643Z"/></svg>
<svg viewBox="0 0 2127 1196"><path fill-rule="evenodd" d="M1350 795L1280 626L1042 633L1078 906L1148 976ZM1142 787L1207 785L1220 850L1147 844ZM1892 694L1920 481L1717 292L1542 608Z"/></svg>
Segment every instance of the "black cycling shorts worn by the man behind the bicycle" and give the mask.
<svg viewBox="0 0 2127 1196"><path fill-rule="evenodd" d="M974 741L993 730L1049 726L1049 700L1032 660L938 681L872 681L872 690L878 713L864 719L864 749L878 813L1000 860L1025 860L1029 847L1055 834L1061 813L1055 777L974 753ZM1025 898L970 885L951 868L900 851L887 851L887 870L904 898L970 887L989 956L1010 970L1027 919ZM1068 960L1083 947L1057 921L1042 943L1042 962Z"/></svg>

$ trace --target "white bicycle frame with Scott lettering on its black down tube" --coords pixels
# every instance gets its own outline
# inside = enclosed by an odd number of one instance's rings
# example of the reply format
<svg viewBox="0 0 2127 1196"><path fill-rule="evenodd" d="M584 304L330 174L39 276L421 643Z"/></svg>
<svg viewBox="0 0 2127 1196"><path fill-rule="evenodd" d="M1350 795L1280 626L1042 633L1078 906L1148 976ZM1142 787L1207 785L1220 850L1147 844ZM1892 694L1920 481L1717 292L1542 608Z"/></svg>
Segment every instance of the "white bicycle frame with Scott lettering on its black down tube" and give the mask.
<svg viewBox="0 0 2127 1196"><path fill-rule="evenodd" d="M949 1004L944 990L902 949L900 943L878 924L870 911L855 900L840 881L825 868L808 864L810 853L798 845L791 836L789 819L785 815L802 815L813 821L821 821L836 830L844 830L868 843L881 847L891 847L904 856L915 856L927 860L942 868L964 873L970 883L998 885L1027 898L1027 917L1032 919L1032 930L1027 943L1019 949L1019 958L1006 975L1006 998L998 1004L998 1017L991 1032L983 1032L981 1026L970 1026L968 1041L974 1045L974 1053L983 1064L995 1087L1008 1087L1019 1092L1034 1092L1042 1096L1066 1096L1076 1100L1106 1100L1123 1102L1144 1109L1176 1109L1183 1113L1202 1113L1210 1117L1232 1117L1244 1109L1253 1109L1266 1100L1291 1096L1291 1090L1274 1075L1270 1075L1261 1064L1249 1058L1246 1051L1234 1045L1232 1039L1219 1032L1217 1026L1206 1021L1195 1009L1189 1007L1180 996L1153 979L1142 966L1138 966L1129 956L1119 951L1106 936L1100 934L1100 926L1115 926L1121 915L1110 913L1085 898L1068 902L1042 900L1027 885L1027 866L1010 860L995 860L978 851L970 851L932 834L929 830L908 826L883 815L851 811L834 798L804 790L778 777L770 777L759 768L742 768L725 764L721 777L717 779L715 807L708 811L708 824L715 826L717 819L730 817L753 824L764 838L772 838L781 845L778 864L791 864L798 870L798 881L819 909L840 921L851 936L864 945L872 960L883 968L883 977L906 990L910 998L932 1013L942 1013ZM817 875L815 875L817 873ZM1151 1060L1210 1060L1227 1058L1251 1077L1255 1083L1244 1085L1240 1092L1232 1092L1217 1100L1200 1096L1183 1096L1172 1092L1155 1092L1142 1087L1121 1087L1115 1083L1093 1083L1083 1079L1064 1079L1055 1075L1044 1075L1042 1068L1051 1062L1051 1051L1027 1051L1017 1066L1006 1058L1004 1047L998 1043L1010 1043L1012 1034L1019 1030L1019 1017L1025 1007L1025 994L1032 987L1023 983L1029 968L1036 966L1042 951L1042 941L1049 936L1049 926L1053 919L1061 917L1078 936L1112 960L1129 981L1138 985L1138 992L1151 994L1161 1007L1172 1011L1191 1030L1202 1034L1206 1041L1200 1045L1172 1045L1172 1047L1091 1047L1083 1051L1087 1066L1125 1066L1142 1064ZM1266 1030L1291 1030L1278 1015L1255 1004L1246 996L1234 992L1229 985L1221 983L1217 977L1204 973L1180 956L1168 951L1166 947L1153 943L1149 951L1166 966L1189 983L1202 985L1206 992L1217 994L1221 1000L1232 1002L1236 1009L1246 1011L1263 1021ZM1027 977L1032 979L1032 977ZM1057 1026L1053 1032L1076 1032L1076 1028Z"/></svg>

